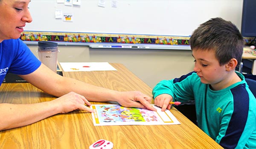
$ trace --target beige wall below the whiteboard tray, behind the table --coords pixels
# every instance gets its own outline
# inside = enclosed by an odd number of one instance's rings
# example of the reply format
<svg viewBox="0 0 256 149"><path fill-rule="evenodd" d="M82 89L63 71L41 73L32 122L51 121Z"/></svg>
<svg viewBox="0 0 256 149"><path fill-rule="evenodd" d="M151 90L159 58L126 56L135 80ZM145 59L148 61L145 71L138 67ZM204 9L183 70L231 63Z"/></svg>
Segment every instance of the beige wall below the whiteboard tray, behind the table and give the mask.
<svg viewBox="0 0 256 149"><path fill-rule="evenodd" d="M38 57L37 46L29 45ZM180 77L193 71L190 50L89 49L87 46L59 46L59 62L122 63L153 88L160 80Z"/></svg>

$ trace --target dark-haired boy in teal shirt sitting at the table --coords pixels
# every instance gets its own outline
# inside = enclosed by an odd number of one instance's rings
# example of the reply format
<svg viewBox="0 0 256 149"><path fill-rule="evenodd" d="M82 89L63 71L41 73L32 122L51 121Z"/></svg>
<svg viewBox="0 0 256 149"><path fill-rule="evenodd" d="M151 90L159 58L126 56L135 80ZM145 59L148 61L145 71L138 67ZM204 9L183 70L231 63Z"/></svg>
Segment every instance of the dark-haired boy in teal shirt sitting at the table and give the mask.
<svg viewBox="0 0 256 149"><path fill-rule="evenodd" d="M170 101L195 99L198 126L227 149L256 148L256 99L235 71L244 40L230 21L213 18L190 37L194 72L163 80L153 89L162 111Z"/></svg>

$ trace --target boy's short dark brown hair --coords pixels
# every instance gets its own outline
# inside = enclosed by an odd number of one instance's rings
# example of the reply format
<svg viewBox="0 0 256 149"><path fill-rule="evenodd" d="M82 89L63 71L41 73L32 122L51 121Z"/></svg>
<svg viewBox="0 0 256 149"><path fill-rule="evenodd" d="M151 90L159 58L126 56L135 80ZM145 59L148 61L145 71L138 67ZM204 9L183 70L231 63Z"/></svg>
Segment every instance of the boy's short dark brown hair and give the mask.
<svg viewBox="0 0 256 149"><path fill-rule="evenodd" d="M244 38L236 25L220 17L212 18L201 24L189 39L192 50L215 50L220 66L231 58L241 63Z"/></svg>

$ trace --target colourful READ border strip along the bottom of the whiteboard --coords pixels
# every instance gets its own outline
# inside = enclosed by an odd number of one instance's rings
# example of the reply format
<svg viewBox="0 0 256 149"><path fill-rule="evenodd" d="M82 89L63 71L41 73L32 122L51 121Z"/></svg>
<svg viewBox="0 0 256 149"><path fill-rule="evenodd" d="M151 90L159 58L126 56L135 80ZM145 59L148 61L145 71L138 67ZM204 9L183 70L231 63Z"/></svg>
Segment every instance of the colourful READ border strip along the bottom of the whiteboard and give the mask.
<svg viewBox="0 0 256 149"><path fill-rule="evenodd" d="M139 34L24 31L21 33L20 39L23 41L54 41L68 43L189 45L189 37Z"/></svg>

